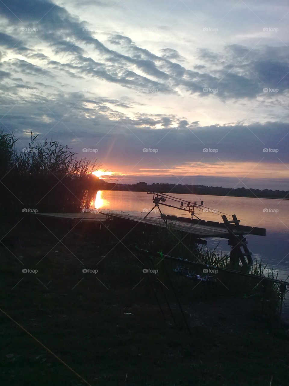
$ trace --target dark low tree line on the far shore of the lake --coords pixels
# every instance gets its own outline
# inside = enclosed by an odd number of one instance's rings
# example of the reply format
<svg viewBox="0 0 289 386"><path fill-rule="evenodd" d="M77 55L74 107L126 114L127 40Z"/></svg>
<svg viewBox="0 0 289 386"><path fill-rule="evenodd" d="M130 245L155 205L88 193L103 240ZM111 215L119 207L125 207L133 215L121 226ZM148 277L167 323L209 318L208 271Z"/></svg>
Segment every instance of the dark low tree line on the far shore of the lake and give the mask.
<svg viewBox="0 0 289 386"><path fill-rule="evenodd" d="M222 186L205 186L205 185L175 185L175 184L151 184L139 182L137 184L114 184L105 183L106 190L122 191L147 191L153 190L162 193L181 193L195 195L212 195L212 196L234 196L234 197L259 197L259 198L289 198L289 191L271 190L271 189L246 189L246 188L223 188Z"/></svg>

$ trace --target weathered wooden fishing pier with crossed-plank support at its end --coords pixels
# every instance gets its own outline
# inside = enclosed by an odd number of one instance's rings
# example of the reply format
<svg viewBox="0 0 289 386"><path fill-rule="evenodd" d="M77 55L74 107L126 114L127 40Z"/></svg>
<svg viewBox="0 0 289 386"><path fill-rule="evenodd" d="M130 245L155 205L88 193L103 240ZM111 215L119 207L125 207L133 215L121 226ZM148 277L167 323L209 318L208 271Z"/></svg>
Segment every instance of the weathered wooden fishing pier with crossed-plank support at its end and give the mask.
<svg viewBox="0 0 289 386"><path fill-rule="evenodd" d="M158 204L158 203L157 203ZM168 206L168 205L167 205ZM225 215L222 216L223 223L215 221L205 221L200 218L176 217L172 215L164 215L160 212L160 217L145 217L132 215L127 212L99 212L99 213L36 213L37 216L45 216L50 218L61 218L66 220L74 220L77 222L90 222L109 227L112 223L117 229L134 229L138 226L142 227L161 227L168 228L171 232L175 230L190 234L197 244L207 244L208 238L218 237L227 239L228 245L231 246L230 262L239 264L242 262L243 267L252 265L252 253L247 247L245 235L265 236L264 228L249 227L240 225L240 220L235 215L232 215L233 220L227 220Z"/></svg>

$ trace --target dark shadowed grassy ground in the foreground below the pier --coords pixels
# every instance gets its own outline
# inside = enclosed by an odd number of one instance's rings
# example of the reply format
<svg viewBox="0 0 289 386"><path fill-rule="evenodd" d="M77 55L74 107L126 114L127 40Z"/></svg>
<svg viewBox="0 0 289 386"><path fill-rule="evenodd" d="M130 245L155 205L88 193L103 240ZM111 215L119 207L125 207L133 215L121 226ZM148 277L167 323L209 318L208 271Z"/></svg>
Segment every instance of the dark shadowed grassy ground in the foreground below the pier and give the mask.
<svg viewBox="0 0 289 386"><path fill-rule="evenodd" d="M257 296L225 278L195 287L169 263L170 277L144 274L109 232L56 224L10 232L22 248L0 248L0 308L70 369L1 312L1 385L289 385L287 332Z"/></svg>

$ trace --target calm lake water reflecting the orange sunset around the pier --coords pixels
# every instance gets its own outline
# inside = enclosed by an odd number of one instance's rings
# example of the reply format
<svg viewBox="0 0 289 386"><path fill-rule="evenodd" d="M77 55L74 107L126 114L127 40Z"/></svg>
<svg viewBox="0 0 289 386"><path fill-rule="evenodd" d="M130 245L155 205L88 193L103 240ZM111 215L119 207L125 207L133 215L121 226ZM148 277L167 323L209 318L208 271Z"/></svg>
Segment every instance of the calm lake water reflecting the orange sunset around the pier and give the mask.
<svg viewBox="0 0 289 386"><path fill-rule="evenodd" d="M289 200L271 200L268 198L247 198L247 197L224 197L224 196L194 196L178 195L174 196L190 202L204 201L204 206L214 212L203 212L195 210L198 217L203 220L222 222L220 212L228 215L235 214L241 220L241 225L250 225L266 228L266 237L248 235L248 247L252 252L252 258L257 261L262 260L268 263L268 268L278 269L279 279L286 279L289 274ZM98 191L95 200L95 207L100 210L113 210L115 212L129 212L145 216L147 211L153 208L153 195L144 192L126 191ZM166 201L168 204L172 202ZM186 215L186 212L161 207L165 214ZM267 210L264 212L264 210ZM150 217L159 216L159 213L151 213ZM230 218L231 219L231 218ZM207 247L215 248L217 251L230 252L228 241L224 239L208 239Z"/></svg>

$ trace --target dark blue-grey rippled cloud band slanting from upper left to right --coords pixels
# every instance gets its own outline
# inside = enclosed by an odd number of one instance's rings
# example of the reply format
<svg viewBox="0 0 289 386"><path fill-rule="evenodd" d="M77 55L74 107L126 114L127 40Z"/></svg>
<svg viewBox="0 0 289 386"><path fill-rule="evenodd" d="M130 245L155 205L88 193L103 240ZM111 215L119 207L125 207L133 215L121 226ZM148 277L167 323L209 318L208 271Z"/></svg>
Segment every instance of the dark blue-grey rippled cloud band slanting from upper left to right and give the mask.
<svg viewBox="0 0 289 386"><path fill-rule="evenodd" d="M120 52L111 50L96 39L93 31L86 28L79 18L49 1L15 0L8 3L4 0L0 3L0 10L17 25L37 24L37 36L48 41L55 54L71 56L69 63L62 63L61 67L72 77L79 76L80 72L135 90L153 88L160 93L178 93L181 87L203 98L218 97L223 101L252 99L263 95L263 88L277 84L279 93L289 87L288 61L278 48L249 49L237 44L227 46L224 52L200 48L198 58L207 66L195 64L198 71L192 71L174 62L183 60L175 49L161 49L162 56L158 56L121 34L114 34L109 39L110 43L119 47ZM2 40L6 46L15 44L18 49L27 49L8 35L4 34ZM94 47L99 61L84 55L83 44ZM204 88L218 91L215 94L204 93Z"/></svg>

